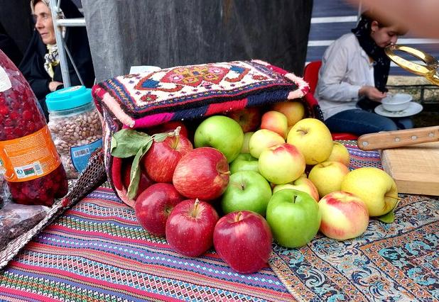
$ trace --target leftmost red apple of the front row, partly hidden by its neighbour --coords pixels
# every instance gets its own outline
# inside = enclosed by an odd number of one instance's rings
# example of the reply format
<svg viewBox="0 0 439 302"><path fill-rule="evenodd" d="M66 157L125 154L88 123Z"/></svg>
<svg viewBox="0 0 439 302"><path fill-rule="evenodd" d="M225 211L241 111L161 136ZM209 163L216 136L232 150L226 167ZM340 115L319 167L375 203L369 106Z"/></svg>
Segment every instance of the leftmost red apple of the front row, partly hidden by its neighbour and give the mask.
<svg viewBox="0 0 439 302"><path fill-rule="evenodd" d="M170 211L183 199L172 184L153 184L137 198L136 218L149 233L163 236Z"/></svg>

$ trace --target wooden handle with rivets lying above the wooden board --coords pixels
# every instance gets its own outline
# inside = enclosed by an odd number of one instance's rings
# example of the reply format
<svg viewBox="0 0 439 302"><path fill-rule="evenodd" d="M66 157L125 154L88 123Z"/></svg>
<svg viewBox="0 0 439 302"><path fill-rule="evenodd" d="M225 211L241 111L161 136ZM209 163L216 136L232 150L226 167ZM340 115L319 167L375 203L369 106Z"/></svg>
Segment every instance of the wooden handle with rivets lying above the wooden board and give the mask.
<svg viewBox="0 0 439 302"><path fill-rule="evenodd" d="M439 126L433 126L364 134L358 138L357 145L361 150L376 150L437 141Z"/></svg>

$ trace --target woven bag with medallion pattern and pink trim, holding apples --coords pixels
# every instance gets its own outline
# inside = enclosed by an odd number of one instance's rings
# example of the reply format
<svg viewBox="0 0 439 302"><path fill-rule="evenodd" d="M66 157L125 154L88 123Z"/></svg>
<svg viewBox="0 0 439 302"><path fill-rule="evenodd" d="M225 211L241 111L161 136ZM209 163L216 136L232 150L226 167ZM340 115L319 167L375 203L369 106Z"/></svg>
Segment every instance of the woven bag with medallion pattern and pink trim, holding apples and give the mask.
<svg viewBox="0 0 439 302"><path fill-rule="evenodd" d="M121 128L145 128L168 121L190 121L251 106L300 99L309 91L302 78L252 61L220 62L127 74L92 89L104 117L105 167L112 188L132 206L121 183L121 160L110 155L112 135ZM303 98L306 116L323 119L314 99Z"/></svg>

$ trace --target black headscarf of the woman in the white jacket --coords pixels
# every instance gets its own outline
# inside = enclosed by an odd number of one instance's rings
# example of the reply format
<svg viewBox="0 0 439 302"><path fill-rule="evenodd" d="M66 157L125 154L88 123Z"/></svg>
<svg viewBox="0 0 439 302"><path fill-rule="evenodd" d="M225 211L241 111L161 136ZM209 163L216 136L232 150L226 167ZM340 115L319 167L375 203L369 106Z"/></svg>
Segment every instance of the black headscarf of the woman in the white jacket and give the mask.
<svg viewBox="0 0 439 302"><path fill-rule="evenodd" d="M376 45L370 36L372 19L362 14L357 27L352 28L352 33L357 37L359 45L374 59L374 80L375 87L381 92L387 91L386 84L389 77L390 59L386 56L383 47Z"/></svg>

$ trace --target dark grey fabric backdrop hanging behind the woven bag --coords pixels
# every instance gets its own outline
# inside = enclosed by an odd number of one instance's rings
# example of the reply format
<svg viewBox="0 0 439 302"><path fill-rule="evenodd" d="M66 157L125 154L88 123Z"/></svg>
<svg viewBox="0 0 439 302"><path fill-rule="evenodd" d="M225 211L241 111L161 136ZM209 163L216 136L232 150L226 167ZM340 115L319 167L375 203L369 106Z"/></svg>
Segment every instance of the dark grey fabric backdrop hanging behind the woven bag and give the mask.
<svg viewBox="0 0 439 302"><path fill-rule="evenodd" d="M313 0L82 0L97 81L132 65L261 59L301 74Z"/></svg>

